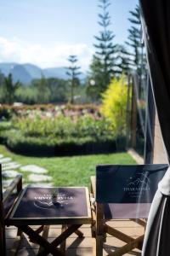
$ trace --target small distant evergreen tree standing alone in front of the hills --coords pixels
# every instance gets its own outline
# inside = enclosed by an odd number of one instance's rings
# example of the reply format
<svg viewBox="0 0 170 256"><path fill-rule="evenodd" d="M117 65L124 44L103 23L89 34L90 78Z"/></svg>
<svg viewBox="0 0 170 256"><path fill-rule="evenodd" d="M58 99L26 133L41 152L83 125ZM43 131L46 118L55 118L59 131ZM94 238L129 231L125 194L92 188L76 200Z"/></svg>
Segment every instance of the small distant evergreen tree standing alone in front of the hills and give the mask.
<svg viewBox="0 0 170 256"><path fill-rule="evenodd" d="M68 61L70 62L70 66L66 67L67 72L66 74L70 77L70 83L71 83L71 98L70 102L71 104L74 104L74 92L77 85L80 83L78 79L78 75L81 74L79 71L81 67L77 66L77 55L70 55L68 58Z"/></svg>

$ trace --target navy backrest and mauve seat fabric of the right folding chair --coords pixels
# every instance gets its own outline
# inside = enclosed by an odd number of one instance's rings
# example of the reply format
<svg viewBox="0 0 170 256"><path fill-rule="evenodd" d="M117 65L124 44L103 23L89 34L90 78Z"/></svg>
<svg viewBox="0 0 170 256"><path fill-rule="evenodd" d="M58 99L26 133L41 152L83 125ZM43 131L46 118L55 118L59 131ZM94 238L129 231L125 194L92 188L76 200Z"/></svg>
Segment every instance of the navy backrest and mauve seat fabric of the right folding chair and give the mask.
<svg viewBox="0 0 170 256"><path fill-rule="evenodd" d="M96 166L96 202L105 218L147 218L167 165ZM113 207L114 206L114 207Z"/></svg>

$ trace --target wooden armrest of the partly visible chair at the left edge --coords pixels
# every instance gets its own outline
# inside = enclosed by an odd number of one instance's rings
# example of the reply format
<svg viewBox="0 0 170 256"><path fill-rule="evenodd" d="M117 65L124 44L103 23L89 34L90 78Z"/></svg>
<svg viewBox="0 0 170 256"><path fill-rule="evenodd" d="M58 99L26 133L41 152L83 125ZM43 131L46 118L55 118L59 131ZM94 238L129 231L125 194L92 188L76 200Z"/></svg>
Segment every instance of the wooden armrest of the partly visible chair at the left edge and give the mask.
<svg viewBox="0 0 170 256"><path fill-rule="evenodd" d="M12 194L14 189L17 189L17 192L22 190L22 175L19 174L14 178L14 181L9 184L8 189L3 193L3 204L8 201L9 196Z"/></svg>

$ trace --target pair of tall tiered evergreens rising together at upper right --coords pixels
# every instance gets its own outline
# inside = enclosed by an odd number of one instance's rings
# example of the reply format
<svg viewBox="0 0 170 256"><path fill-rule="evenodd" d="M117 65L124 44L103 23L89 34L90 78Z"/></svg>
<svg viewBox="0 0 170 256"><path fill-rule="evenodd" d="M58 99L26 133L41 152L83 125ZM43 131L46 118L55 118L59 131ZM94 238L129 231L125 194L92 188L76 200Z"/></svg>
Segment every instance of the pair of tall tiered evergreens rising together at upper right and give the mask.
<svg viewBox="0 0 170 256"><path fill-rule="evenodd" d="M146 77L146 57L142 42L142 28L139 5L129 12L130 28L124 44L114 44L116 35L111 31L109 14L110 0L99 0L99 35L94 36L95 53L88 73L88 95L99 100L100 95L111 83L111 79L119 78L122 73L136 73L139 87ZM92 84L93 82L93 84ZM141 90L141 88L139 88Z"/></svg>

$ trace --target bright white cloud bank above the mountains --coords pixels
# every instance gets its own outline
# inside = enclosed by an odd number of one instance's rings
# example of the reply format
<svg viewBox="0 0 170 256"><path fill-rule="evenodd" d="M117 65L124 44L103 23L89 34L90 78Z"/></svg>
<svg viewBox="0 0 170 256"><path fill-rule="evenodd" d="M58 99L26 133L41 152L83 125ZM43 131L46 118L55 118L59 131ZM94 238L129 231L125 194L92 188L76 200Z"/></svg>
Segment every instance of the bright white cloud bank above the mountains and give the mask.
<svg viewBox="0 0 170 256"><path fill-rule="evenodd" d="M0 61L32 63L39 67L67 66L69 55L77 55L82 70L87 70L93 55L87 44L55 44L42 46L41 44L28 44L14 38L0 37Z"/></svg>

